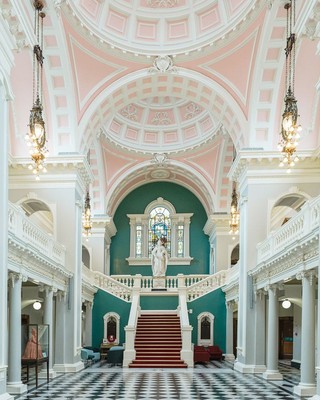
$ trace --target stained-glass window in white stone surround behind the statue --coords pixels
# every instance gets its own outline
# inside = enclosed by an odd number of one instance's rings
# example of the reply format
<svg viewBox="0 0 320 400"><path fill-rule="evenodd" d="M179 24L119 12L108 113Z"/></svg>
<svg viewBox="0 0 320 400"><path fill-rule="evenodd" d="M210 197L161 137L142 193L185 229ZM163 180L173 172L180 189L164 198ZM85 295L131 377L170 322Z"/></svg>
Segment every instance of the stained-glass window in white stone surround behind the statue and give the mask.
<svg viewBox="0 0 320 400"><path fill-rule="evenodd" d="M144 214L128 214L130 219L129 265L150 265L158 239L165 238L169 265L190 265L189 230L192 213L176 213L162 197L147 205Z"/></svg>

